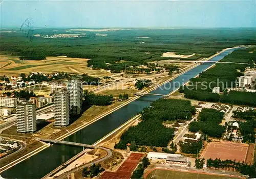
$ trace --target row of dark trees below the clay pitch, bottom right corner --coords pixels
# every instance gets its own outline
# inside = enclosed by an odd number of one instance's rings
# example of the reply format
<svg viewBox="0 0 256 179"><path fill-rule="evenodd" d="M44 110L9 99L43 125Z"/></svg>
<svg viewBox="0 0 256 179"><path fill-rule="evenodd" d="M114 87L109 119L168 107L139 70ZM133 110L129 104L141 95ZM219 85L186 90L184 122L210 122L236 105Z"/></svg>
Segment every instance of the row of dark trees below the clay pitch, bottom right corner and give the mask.
<svg viewBox="0 0 256 179"><path fill-rule="evenodd" d="M249 175L250 178L256 177L256 163L254 163L253 165L248 165L245 163L240 163L232 160L222 161L216 158L215 160L208 159L207 167L218 168L218 169L235 168L237 171L241 172L242 174Z"/></svg>

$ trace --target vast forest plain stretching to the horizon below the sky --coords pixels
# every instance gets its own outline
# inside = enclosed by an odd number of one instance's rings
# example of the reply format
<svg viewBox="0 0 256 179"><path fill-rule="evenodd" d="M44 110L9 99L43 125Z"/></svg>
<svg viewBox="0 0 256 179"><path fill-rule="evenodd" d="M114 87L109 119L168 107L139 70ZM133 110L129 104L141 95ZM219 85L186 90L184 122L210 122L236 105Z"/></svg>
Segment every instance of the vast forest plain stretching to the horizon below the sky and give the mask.
<svg viewBox="0 0 256 179"><path fill-rule="evenodd" d="M145 61L181 59L161 57L165 52L195 53L186 60L197 60L227 47L256 44L254 29L129 29L104 32L107 36L96 36L96 32L87 31L86 36L77 38L44 38L61 33L81 34L81 31L25 28L15 30L15 33L2 33L0 51L19 57L87 58L91 59L88 63L93 68L118 72L125 66L143 65Z"/></svg>

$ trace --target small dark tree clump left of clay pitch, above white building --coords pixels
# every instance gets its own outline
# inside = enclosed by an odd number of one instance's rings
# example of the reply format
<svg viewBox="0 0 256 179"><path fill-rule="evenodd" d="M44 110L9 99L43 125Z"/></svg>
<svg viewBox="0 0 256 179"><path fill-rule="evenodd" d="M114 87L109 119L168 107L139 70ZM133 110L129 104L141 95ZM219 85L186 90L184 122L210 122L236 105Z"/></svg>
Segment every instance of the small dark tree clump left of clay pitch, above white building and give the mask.
<svg viewBox="0 0 256 179"><path fill-rule="evenodd" d="M183 142L179 143L180 149L185 154L198 154L203 147L203 140L198 142Z"/></svg>

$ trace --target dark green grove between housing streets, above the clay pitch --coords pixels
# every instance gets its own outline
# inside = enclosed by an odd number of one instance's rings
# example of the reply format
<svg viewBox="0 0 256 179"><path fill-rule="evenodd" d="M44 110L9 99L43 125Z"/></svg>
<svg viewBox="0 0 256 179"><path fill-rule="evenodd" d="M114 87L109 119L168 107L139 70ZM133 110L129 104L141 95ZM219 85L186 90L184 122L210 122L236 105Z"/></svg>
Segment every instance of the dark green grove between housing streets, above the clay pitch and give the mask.
<svg viewBox="0 0 256 179"><path fill-rule="evenodd" d="M193 121L189 124L188 130L190 132L202 131L210 137L222 137L225 127L219 125L223 119L223 112L215 109L203 108L199 113L199 121Z"/></svg>

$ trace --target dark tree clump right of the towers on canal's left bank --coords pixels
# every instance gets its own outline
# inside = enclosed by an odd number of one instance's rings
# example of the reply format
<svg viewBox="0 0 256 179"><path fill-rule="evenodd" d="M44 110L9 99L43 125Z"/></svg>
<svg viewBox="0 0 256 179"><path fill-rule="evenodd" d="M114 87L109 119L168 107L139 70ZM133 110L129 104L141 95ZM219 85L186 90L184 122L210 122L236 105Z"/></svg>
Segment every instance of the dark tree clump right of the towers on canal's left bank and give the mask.
<svg viewBox="0 0 256 179"><path fill-rule="evenodd" d="M113 101L112 95L96 95L93 92L88 92L88 90L84 90L83 97L88 105L108 106Z"/></svg>

